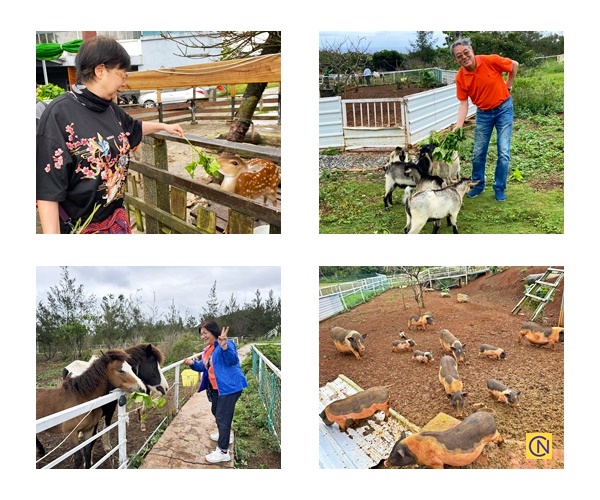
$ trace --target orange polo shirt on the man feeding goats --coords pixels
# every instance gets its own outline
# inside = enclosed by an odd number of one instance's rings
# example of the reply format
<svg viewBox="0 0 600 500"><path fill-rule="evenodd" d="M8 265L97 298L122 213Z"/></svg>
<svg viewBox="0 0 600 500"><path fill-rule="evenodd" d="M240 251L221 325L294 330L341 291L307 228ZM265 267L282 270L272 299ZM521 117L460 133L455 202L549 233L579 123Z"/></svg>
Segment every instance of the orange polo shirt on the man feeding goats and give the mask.
<svg viewBox="0 0 600 500"><path fill-rule="evenodd" d="M482 110L493 109L510 96L502 74L510 73L512 60L492 54L475 56L475 61L475 71L467 71L462 66L458 70L456 97L459 101L470 97L473 104Z"/></svg>

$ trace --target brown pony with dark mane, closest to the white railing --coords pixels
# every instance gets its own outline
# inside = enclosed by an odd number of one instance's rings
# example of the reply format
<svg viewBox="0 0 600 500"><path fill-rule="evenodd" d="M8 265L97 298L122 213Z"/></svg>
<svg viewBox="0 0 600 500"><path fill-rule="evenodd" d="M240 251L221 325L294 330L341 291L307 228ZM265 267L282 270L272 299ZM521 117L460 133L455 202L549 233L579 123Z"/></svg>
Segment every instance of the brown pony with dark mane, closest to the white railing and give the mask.
<svg viewBox="0 0 600 500"><path fill-rule="evenodd" d="M144 390L143 387L140 387L136 378L123 371L123 363L130 359L125 351L112 349L102 353L81 375L65 378L60 387L56 389L37 389L36 419L105 396L114 388L126 392ZM69 434L68 443L73 448L77 446L80 434L84 440L94 434L102 414L102 408L95 408L86 415L74 417L62 424L51 427L47 432ZM44 447L37 436L36 446L38 451L45 455ZM86 446L84 450L84 454L81 453L81 450L75 452L76 469L81 468L83 460L85 460L86 469L91 467L92 448ZM85 456L82 457L82 455Z"/></svg>

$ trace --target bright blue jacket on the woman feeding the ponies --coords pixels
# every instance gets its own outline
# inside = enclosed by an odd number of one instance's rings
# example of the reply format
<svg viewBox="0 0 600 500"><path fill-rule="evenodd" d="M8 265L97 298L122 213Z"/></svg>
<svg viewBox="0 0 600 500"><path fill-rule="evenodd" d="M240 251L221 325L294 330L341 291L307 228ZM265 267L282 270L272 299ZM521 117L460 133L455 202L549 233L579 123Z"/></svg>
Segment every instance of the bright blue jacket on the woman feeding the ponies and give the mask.
<svg viewBox="0 0 600 500"><path fill-rule="evenodd" d="M242 367L240 366L240 358L237 354L237 349L232 340L227 341L227 349L223 350L219 345L219 342L215 340L215 350L211 356L211 363L215 369L215 377L217 379L217 385L219 386L219 395L226 396L227 394L233 394L234 392L241 391L248 387L248 382ZM204 352L208 347L202 351L202 358L204 358ZM194 361L194 364L190 366L194 371L202 373L202 380L198 387L198 392L203 391L208 387L208 370L204 366L204 362Z"/></svg>

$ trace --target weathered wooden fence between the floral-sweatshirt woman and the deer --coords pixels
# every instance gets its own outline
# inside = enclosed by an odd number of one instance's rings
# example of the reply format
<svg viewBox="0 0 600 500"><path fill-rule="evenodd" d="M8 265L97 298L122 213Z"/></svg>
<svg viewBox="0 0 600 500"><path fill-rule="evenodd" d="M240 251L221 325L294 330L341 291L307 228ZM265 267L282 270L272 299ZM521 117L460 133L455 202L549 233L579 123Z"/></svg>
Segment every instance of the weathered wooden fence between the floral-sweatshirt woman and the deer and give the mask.
<svg viewBox="0 0 600 500"><path fill-rule="evenodd" d="M187 136L196 147L215 153L234 152L245 158L266 158L281 165L281 149L252 144L233 143L222 139ZM281 232L280 207L261 203L222 191L218 187L170 173L167 142L187 141L175 135L159 132L144 137L141 161L132 160L125 202L135 214L136 229L147 234L186 233L250 234L258 226L269 225L271 234ZM136 175L137 174L137 175ZM140 191L142 193L140 194ZM187 194L208 200L208 207L198 207L196 224L187 222Z"/></svg>

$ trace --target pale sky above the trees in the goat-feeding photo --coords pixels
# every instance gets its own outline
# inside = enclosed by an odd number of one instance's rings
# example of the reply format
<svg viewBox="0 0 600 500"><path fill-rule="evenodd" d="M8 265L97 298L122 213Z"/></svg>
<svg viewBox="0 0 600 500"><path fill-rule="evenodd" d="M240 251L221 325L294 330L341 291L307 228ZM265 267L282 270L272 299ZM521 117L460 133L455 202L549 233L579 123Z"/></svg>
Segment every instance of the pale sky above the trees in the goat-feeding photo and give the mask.
<svg viewBox="0 0 600 500"><path fill-rule="evenodd" d="M319 33L319 48L336 46L337 44L350 41L357 44L358 40L364 38L360 48L370 54L380 50L396 50L400 53L408 53L411 50L410 42L416 42L416 31L321 31ZM433 32L433 42L438 46L444 44L444 34L441 31ZM367 48L368 47L368 48Z"/></svg>

